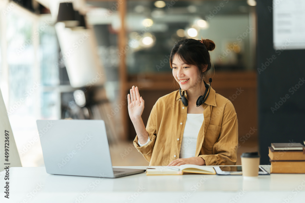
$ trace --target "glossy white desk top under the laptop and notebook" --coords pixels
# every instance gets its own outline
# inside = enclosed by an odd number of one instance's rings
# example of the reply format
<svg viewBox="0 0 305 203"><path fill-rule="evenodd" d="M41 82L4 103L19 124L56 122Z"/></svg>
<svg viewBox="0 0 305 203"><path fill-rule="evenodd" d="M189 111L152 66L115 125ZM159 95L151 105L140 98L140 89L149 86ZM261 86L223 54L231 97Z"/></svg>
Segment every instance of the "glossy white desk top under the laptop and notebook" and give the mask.
<svg viewBox="0 0 305 203"><path fill-rule="evenodd" d="M110 179L50 175L45 167L12 167L9 178L8 200L2 192L4 171L0 173L1 203L305 202L305 174L271 174L243 180L242 176L146 176L141 173Z"/></svg>

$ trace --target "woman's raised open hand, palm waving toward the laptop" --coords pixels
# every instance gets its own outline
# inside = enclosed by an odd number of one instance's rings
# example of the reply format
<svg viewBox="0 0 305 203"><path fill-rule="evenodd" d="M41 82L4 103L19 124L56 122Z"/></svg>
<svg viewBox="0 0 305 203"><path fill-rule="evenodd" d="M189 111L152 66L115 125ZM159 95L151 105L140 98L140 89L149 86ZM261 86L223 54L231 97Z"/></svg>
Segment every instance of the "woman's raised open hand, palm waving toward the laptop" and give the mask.
<svg viewBox="0 0 305 203"><path fill-rule="evenodd" d="M127 101L131 121L141 117L144 110L144 100L140 96L138 87L132 86L130 94L127 95Z"/></svg>

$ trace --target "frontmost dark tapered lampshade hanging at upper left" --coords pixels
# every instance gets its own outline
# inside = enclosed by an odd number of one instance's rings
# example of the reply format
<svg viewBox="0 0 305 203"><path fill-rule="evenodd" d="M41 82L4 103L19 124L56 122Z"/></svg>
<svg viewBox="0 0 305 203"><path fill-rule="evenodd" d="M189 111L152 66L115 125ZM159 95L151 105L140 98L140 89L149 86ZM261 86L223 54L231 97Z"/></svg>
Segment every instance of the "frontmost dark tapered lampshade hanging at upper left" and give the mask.
<svg viewBox="0 0 305 203"><path fill-rule="evenodd" d="M72 3L64 2L59 4L57 22L65 23L66 27L78 26L79 21L75 18Z"/></svg>

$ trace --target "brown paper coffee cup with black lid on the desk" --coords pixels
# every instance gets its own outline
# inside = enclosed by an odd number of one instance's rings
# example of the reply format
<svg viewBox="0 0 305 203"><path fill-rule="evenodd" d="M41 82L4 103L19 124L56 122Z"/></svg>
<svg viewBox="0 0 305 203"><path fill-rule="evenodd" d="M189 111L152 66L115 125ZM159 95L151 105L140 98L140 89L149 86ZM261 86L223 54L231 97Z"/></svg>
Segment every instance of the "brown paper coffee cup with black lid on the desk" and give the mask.
<svg viewBox="0 0 305 203"><path fill-rule="evenodd" d="M258 177L260 155L258 152L245 152L240 156L243 177Z"/></svg>

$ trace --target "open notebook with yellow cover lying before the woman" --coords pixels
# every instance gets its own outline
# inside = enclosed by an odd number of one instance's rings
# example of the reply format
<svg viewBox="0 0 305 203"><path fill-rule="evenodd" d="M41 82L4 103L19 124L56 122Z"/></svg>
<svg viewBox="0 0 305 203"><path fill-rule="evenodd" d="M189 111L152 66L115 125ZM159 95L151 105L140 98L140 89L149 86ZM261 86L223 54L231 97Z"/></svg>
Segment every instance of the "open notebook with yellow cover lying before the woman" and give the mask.
<svg viewBox="0 0 305 203"><path fill-rule="evenodd" d="M216 174L215 170L206 166L184 164L181 166L149 166L146 175L183 175L183 173Z"/></svg>

